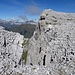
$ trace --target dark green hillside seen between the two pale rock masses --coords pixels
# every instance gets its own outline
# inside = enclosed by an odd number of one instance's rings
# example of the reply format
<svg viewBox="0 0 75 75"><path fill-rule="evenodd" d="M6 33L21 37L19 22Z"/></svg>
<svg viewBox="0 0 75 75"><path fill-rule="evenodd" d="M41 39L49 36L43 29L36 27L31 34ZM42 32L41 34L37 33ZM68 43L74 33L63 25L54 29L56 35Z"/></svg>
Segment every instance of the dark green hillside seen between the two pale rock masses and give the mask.
<svg viewBox="0 0 75 75"><path fill-rule="evenodd" d="M35 26L36 25L22 24L22 25L16 26L15 28L10 28L8 30L13 32L18 32L21 35L24 35L25 38L30 38L33 35Z"/></svg>

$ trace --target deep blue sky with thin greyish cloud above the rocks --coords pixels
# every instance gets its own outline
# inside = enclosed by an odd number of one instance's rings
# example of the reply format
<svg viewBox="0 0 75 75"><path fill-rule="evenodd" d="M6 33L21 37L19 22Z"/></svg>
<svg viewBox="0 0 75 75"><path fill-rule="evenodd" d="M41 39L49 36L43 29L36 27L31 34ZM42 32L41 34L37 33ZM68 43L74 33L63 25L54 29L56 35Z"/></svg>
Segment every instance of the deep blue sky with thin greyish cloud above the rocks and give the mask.
<svg viewBox="0 0 75 75"><path fill-rule="evenodd" d="M0 0L0 19L37 20L44 9L74 13L75 0Z"/></svg>

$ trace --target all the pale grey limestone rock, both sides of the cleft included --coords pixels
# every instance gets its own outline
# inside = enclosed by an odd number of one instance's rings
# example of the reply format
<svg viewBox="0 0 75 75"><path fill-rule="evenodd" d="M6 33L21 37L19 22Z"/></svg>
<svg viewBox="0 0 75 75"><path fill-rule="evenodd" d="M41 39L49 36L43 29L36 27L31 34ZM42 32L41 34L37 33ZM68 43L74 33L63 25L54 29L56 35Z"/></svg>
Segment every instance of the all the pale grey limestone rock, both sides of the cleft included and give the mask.
<svg viewBox="0 0 75 75"><path fill-rule="evenodd" d="M74 13L44 10L29 41L4 28L0 36L1 75L75 75Z"/></svg>

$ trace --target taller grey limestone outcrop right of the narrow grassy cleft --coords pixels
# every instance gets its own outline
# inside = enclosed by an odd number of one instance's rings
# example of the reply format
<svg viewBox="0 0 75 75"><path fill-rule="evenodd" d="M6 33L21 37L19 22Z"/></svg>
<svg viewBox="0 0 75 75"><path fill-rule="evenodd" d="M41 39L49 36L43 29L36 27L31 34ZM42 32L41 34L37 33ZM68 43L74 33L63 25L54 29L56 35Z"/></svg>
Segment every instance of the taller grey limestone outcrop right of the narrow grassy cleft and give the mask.
<svg viewBox="0 0 75 75"><path fill-rule="evenodd" d="M75 14L45 10L40 15L27 64L50 67L51 75L75 74Z"/></svg>

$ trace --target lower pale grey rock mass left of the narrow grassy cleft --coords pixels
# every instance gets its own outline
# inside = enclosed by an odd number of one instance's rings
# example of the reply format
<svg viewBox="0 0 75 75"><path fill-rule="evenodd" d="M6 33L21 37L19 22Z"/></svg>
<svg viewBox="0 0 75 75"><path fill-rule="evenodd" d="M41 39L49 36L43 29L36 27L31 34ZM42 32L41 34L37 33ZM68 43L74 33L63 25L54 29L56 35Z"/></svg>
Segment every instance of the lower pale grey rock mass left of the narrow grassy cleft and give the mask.
<svg viewBox="0 0 75 75"><path fill-rule="evenodd" d="M0 27L0 75L12 75L19 66L23 48L23 36Z"/></svg>

